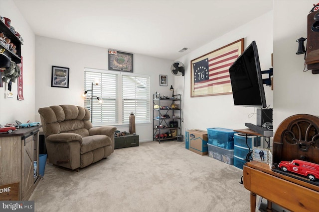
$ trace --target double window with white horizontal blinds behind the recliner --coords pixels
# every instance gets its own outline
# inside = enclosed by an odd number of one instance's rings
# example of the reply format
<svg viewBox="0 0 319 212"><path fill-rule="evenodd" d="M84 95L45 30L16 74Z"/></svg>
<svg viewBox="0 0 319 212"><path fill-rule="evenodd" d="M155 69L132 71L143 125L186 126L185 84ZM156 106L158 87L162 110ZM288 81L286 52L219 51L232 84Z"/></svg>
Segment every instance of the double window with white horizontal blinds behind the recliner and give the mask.
<svg viewBox="0 0 319 212"><path fill-rule="evenodd" d="M129 124L132 112L136 123L150 123L150 76L85 69L84 90L84 107L92 113L93 126Z"/></svg>

